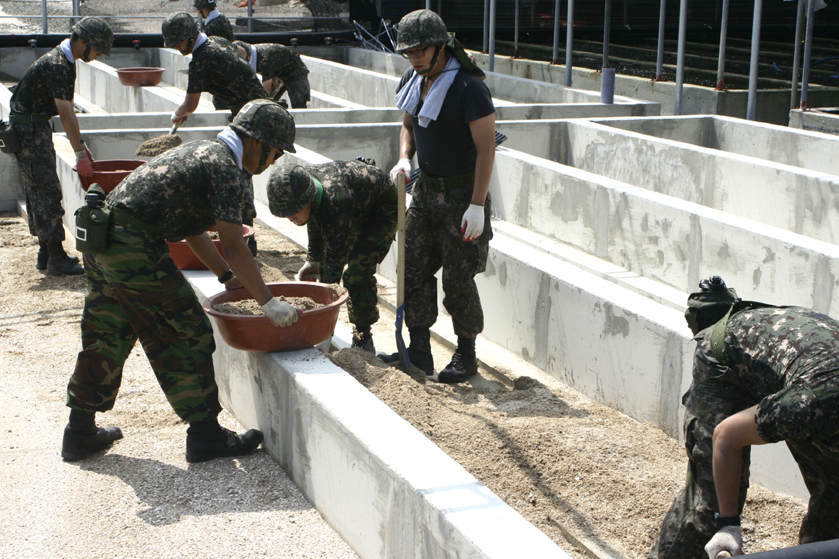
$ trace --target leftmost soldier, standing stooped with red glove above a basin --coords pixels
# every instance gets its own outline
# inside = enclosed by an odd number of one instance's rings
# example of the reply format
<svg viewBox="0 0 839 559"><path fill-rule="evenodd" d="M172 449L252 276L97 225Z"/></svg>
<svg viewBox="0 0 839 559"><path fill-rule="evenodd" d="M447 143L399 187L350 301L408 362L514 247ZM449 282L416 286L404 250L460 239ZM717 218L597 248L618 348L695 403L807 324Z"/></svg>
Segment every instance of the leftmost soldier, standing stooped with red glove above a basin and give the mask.
<svg viewBox="0 0 839 559"><path fill-rule="evenodd" d="M39 241L35 267L50 274L79 275L84 269L76 256L68 256L61 206L61 184L55 170L55 148L50 118L59 115L67 139L76 152L79 174L93 176L93 157L81 139L73 107L76 60L96 60L110 54L113 32L103 19L84 18L48 54L35 61L18 83L10 102L19 148L14 154L23 175L23 192L29 214L29 233Z"/></svg>

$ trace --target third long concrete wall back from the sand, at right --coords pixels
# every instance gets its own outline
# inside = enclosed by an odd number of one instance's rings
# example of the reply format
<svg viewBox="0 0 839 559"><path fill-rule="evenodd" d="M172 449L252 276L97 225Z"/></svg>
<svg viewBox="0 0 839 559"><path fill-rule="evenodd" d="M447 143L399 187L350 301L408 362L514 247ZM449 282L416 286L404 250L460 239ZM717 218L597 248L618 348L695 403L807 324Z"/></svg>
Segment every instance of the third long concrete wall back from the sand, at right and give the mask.
<svg viewBox="0 0 839 559"><path fill-rule="evenodd" d="M567 121L557 161L819 241L839 242L839 177Z"/></svg>

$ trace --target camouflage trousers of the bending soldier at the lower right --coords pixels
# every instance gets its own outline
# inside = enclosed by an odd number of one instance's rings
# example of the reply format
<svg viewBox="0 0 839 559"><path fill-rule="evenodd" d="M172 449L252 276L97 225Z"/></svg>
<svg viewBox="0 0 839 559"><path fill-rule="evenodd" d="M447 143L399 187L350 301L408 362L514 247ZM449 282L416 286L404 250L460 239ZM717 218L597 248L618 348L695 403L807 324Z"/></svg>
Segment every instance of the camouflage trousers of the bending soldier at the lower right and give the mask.
<svg viewBox="0 0 839 559"><path fill-rule="evenodd" d="M689 459L685 488L664 516L659 536L649 552L650 559L706 559L704 547L717 533L714 513L719 507L712 460L714 429L726 417L757 402L750 400L743 387L738 386L739 381L731 369L720 375L718 365L714 366L716 362L709 334L697 344L693 384L683 399L690 410L685 415L685 448ZM839 386L821 387L821 396L829 396L826 392L831 390L839 390ZM786 441L810 491L810 503L801 522L799 541L810 543L839 538L839 515L836 515L836 503L839 502L837 437L810 441L809 433L801 434L801 439ZM738 514L746 501L750 449L743 448Z"/></svg>

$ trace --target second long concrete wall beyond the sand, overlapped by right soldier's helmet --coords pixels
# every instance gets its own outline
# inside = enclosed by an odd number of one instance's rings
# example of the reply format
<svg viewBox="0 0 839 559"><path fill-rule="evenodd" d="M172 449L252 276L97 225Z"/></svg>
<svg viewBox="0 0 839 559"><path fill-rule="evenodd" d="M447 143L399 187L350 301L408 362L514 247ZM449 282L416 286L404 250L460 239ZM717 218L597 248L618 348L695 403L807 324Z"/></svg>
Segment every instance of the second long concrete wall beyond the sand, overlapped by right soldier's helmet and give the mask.
<svg viewBox="0 0 839 559"><path fill-rule="evenodd" d="M831 243L504 148L490 188L500 219L685 294L718 274L743 298L839 316Z"/></svg>

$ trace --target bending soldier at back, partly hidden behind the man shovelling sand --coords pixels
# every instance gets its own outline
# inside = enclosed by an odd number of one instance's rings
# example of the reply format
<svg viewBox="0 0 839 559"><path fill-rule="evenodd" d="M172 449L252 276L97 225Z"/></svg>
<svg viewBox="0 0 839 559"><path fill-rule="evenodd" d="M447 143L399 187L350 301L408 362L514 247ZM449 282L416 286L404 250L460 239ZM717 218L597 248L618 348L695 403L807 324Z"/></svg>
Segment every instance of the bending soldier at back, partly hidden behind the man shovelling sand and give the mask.
<svg viewBox="0 0 839 559"><path fill-rule="evenodd" d="M305 109L310 101L309 69L300 60L300 54L282 44L234 43L253 70L262 75L263 87L268 95L279 100L289 92L292 109Z"/></svg>

